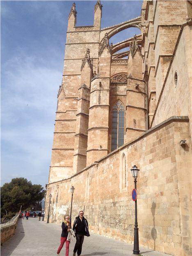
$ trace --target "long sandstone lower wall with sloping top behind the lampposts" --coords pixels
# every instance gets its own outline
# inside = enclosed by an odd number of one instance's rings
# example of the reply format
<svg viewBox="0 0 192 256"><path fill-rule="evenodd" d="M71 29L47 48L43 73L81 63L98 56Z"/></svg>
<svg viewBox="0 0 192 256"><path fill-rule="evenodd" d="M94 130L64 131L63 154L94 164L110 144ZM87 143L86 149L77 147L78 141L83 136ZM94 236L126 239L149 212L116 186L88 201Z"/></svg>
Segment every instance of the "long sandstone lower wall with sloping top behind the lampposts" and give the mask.
<svg viewBox="0 0 192 256"><path fill-rule="evenodd" d="M187 139L185 146L180 145L183 137ZM126 177L122 173L123 154ZM130 169L137 164L139 244L176 256L190 255L190 158L189 120L171 117L79 174L50 183L50 221L62 222L69 213L73 185L72 222L79 210L84 210L91 232L132 243L135 206Z"/></svg>

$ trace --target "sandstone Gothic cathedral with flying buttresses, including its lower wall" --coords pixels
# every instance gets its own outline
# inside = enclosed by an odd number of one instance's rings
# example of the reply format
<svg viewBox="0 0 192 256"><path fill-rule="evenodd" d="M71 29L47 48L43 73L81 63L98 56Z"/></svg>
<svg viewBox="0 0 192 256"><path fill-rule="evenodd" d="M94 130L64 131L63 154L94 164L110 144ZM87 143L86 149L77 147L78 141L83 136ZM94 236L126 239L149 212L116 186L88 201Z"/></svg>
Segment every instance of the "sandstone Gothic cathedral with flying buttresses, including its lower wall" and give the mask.
<svg viewBox="0 0 192 256"><path fill-rule="evenodd" d="M72 222L84 210L90 232L133 243L136 165L139 245L189 256L192 1L144 0L141 16L101 28L103 5L94 25L69 12L44 220L63 221L74 186ZM109 43L130 27L140 34Z"/></svg>

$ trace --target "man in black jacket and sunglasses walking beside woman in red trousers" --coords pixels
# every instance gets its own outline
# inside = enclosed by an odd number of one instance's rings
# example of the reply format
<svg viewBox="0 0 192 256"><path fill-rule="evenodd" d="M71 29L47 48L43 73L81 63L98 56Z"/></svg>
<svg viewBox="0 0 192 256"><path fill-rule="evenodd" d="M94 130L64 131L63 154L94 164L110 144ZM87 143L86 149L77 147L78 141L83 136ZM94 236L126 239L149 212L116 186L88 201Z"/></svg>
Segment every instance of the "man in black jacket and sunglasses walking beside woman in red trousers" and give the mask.
<svg viewBox="0 0 192 256"><path fill-rule="evenodd" d="M79 212L79 216L75 218L75 221L73 223L73 231L75 232L75 235L76 235L76 244L73 249L73 256L75 256L76 252L78 256L81 255L84 235L90 236L89 229L88 229L88 222L83 215L84 215L84 212L81 210Z"/></svg>

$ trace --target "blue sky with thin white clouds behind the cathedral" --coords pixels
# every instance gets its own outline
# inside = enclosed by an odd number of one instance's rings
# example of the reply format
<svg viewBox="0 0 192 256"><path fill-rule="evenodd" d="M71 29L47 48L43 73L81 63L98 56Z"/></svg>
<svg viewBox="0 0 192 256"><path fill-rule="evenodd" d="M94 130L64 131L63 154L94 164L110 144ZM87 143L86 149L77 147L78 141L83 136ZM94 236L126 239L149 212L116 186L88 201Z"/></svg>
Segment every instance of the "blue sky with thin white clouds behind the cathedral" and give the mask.
<svg viewBox="0 0 192 256"><path fill-rule="evenodd" d="M1 1L1 185L48 183L57 92L74 1ZM94 1L75 1L77 26L93 25ZM101 1L101 27L140 16L142 1ZM130 28L110 39L139 34Z"/></svg>

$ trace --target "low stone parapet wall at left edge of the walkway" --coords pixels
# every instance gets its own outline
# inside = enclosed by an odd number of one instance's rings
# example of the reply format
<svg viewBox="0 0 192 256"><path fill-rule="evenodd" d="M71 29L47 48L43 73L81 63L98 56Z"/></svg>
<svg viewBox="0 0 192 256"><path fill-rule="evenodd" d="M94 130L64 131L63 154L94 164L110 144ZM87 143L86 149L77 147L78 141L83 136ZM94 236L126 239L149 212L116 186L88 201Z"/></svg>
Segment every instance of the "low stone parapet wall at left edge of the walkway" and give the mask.
<svg viewBox="0 0 192 256"><path fill-rule="evenodd" d="M15 234L18 218L19 213L10 222L1 224L1 245Z"/></svg>

